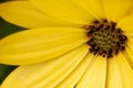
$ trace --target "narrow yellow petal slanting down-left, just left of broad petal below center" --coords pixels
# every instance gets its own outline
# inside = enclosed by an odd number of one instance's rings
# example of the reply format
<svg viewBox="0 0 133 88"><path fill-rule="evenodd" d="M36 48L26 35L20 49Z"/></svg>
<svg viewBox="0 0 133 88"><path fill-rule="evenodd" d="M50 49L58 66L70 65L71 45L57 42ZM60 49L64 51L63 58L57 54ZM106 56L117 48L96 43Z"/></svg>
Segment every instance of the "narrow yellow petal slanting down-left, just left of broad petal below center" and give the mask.
<svg viewBox="0 0 133 88"><path fill-rule="evenodd" d="M93 59L93 54L88 54L85 58L78 65L78 67L61 82L57 88L74 88L83 74L86 72L88 66Z"/></svg>

